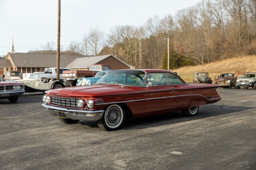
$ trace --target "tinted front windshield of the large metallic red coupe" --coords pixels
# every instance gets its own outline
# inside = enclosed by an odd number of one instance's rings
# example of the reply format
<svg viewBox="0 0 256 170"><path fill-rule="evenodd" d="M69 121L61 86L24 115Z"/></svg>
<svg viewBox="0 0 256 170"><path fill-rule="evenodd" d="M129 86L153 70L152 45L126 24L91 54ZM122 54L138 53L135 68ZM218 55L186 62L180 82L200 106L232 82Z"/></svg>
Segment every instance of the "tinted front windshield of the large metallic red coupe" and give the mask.
<svg viewBox="0 0 256 170"><path fill-rule="evenodd" d="M123 84L147 86L145 72L140 70L115 70L106 73L96 84Z"/></svg>

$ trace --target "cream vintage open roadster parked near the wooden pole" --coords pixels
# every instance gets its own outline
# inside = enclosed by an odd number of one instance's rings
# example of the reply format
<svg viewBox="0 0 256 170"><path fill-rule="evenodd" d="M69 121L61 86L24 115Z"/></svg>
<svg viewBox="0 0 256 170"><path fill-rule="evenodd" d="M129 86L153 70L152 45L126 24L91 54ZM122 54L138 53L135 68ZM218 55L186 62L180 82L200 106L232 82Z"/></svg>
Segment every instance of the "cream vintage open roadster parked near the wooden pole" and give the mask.
<svg viewBox="0 0 256 170"><path fill-rule="evenodd" d="M40 78L40 74L31 74L29 79L16 80L25 85L26 92L44 92L49 89L66 87L64 81L58 78Z"/></svg>

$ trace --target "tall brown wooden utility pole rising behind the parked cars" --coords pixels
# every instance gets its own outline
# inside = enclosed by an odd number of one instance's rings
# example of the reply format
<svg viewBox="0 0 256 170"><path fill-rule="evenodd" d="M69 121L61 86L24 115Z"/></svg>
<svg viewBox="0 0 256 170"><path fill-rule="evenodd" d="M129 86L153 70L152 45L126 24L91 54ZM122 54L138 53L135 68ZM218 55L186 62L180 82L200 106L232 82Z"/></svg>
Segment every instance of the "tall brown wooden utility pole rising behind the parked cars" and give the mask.
<svg viewBox="0 0 256 170"><path fill-rule="evenodd" d="M58 0L57 78L60 78L60 0Z"/></svg>

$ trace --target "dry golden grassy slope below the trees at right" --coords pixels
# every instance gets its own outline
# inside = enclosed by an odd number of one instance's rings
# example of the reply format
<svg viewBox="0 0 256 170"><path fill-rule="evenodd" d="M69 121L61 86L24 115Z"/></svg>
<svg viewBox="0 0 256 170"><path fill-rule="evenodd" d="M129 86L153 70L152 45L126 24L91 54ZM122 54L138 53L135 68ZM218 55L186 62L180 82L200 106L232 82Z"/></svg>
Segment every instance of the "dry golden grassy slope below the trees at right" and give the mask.
<svg viewBox="0 0 256 170"><path fill-rule="evenodd" d="M214 79L215 74L224 72L238 73L240 76L245 72L256 72L256 55L225 59L204 64L204 66L185 66L174 71L178 72L178 74L181 75L181 78L186 82L192 82L195 72L208 72L212 80Z"/></svg>

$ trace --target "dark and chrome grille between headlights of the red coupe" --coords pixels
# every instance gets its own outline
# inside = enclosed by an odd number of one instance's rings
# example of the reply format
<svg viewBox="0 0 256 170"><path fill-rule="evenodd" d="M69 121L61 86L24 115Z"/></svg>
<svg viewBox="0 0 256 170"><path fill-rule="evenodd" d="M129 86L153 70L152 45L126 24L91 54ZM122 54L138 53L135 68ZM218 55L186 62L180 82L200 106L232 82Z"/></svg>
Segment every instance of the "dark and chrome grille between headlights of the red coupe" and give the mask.
<svg viewBox="0 0 256 170"><path fill-rule="evenodd" d="M78 107L77 105L78 98L60 98L60 97L51 97L51 104L64 106L64 107Z"/></svg>

